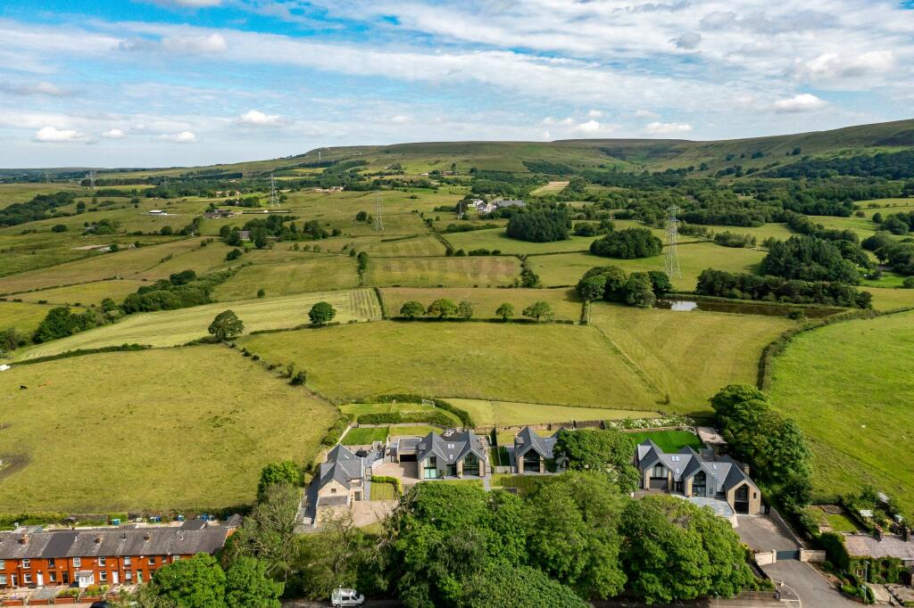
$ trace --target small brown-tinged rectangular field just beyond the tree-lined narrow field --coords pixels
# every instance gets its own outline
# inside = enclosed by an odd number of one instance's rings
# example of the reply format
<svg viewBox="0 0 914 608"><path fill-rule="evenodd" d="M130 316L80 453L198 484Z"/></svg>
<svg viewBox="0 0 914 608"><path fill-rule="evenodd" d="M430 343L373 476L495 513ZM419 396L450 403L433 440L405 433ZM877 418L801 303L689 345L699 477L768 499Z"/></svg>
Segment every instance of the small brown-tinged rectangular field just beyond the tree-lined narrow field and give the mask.
<svg viewBox="0 0 914 608"><path fill-rule="evenodd" d="M382 257L368 262L376 287L499 287L520 276L516 257Z"/></svg>

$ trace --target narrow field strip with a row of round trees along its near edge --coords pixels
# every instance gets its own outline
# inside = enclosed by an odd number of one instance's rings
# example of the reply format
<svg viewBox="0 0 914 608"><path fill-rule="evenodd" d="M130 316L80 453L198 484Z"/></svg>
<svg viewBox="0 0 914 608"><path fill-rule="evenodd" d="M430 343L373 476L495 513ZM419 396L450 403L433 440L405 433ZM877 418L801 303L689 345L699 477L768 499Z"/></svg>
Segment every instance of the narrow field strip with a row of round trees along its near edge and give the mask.
<svg viewBox="0 0 914 608"><path fill-rule="evenodd" d="M381 299L388 317L398 317L399 309L409 300L416 300L428 307L435 299L447 298L454 302L466 300L473 304L473 317L493 319L495 310L504 302L515 308L515 317L521 318L524 309L536 301L549 303L555 319L580 320L581 306L573 289L502 289L502 288L382 288Z"/></svg>

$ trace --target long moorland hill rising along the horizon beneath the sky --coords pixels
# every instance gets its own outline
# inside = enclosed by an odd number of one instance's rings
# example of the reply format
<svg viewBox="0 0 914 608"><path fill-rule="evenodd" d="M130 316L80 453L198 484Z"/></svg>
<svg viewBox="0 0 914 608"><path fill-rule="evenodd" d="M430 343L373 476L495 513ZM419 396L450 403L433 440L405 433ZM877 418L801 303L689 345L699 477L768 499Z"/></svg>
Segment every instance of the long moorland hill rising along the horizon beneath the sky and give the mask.
<svg viewBox="0 0 914 608"><path fill-rule="evenodd" d="M831 131L812 131L717 142L687 140L561 140L557 142L420 142L375 146L318 148L298 156L264 161L216 164L194 167L198 172L266 174L307 174L320 171L314 165L318 152L323 162L357 159L367 161L366 171L382 171L399 163L407 173L427 173L435 169L450 171L452 162L458 173L470 168L520 173L537 171L537 162L565 165L575 171L616 167L623 171L698 167L707 164L707 173L734 163L744 168L763 168L772 162L796 162L804 156L830 157L847 153L889 152L914 147L914 120L856 125ZM799 148L801 153L793 154ZM866 152L865 152L866 151ZM752 158L753 153L762 155ZM136 170L101 173L100 176L178 175L188 168Z"/></svg>

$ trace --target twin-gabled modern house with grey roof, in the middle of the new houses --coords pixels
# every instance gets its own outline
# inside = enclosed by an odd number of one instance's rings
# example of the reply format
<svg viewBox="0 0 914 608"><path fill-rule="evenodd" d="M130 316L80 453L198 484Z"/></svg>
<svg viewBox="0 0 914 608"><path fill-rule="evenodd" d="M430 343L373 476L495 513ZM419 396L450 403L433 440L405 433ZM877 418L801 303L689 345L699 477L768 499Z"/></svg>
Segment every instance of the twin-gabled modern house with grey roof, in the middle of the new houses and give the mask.
<svg viewBox="0 0 914 608"><path fill-rule="evenodd" d="M488 456L482 440L473 431L448 429L429 433L416 445L420 479L442 477L485 477Z"/></svg>

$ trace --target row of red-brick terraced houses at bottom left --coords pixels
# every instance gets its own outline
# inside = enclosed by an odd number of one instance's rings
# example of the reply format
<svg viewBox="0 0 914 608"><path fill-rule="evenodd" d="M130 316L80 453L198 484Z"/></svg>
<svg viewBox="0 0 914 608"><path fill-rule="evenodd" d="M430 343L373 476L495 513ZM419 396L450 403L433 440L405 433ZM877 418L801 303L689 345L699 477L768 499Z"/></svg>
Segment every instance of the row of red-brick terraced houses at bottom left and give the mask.
<svg viewBox="0 0 914 608"><path fill-rule="evenodd" d="M179 527L20 526L0 532L0 589L149 582L167 563L218 551L239 522L233 517L221 524L190 519Z"/></svg>

